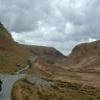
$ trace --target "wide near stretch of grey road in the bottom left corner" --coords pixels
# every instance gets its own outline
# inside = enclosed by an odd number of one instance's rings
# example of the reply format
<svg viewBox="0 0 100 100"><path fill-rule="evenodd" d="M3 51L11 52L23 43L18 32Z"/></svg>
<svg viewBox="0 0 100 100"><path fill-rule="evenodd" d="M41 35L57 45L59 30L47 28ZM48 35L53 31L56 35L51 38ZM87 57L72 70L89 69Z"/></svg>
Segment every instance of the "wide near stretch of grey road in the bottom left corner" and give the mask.
<svg viewBox="0 0 100 100"><path fill-rule="evenodd" d="M0 75L0 79L3 81L2 91L0 93L0 100L11 100L11 90L14 82L23 77L21 75Z"/></svg>

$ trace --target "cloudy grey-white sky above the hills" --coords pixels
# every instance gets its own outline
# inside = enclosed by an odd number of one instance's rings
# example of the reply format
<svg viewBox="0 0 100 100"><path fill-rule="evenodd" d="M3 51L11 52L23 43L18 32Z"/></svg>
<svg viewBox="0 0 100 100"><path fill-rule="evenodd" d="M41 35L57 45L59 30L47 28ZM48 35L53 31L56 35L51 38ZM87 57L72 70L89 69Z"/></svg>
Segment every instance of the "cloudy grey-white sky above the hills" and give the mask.
<svg viewBox="0 0 100 100"><path fill-rule="evenodd" d="M100 0L0 0L0 21L20 43L64 54L100 39Z"/></svg>

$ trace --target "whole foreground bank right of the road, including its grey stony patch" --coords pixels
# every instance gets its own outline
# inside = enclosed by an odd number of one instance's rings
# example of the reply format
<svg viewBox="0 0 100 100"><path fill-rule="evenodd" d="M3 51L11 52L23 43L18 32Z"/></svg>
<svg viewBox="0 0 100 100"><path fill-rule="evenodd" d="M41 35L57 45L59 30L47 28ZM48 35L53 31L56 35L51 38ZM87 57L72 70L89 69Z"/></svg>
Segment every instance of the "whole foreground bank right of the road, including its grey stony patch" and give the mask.
<svg viewBox="0 0 100 100"><path fill-rule="evenodd" d="M99 100L100 90L82 84L38 77L15 82L12 100Z"/></svg>

